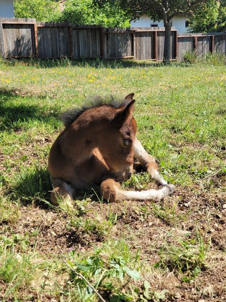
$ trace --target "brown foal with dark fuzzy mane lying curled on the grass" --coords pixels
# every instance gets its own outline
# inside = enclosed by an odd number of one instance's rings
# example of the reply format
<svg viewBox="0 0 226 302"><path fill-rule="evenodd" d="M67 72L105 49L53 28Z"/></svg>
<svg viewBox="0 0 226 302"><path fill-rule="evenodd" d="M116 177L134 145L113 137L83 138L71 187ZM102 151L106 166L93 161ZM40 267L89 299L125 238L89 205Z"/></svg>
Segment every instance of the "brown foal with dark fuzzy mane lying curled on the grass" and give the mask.
<svg viewBox="0 0 226 302"><path fill-rule="evenodd" d="M100 185L101 195L109 201L157 201L174 192L174 186L158 173L155 159L136 138L133 97L128 95L121 104L97 101L62 115L65 129L49 155L53 204L57 205L59 198L70 203L76 190L86 190L92 184ZM121 189L120 183L132 175L134 159L162 186L160 189Z"/></svg>

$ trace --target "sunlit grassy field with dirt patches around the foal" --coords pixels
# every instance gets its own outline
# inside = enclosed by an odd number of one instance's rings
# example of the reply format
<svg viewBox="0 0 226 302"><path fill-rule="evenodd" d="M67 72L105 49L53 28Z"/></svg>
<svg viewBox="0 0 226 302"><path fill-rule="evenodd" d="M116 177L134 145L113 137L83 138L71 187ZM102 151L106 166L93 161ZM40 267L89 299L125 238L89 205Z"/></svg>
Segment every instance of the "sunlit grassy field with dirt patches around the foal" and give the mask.
<svg viewBox="0 0 226 302"><path fill-rule="evenodd" d="M214 62L214 61L213 61ZM133 61L0 62L1 301L226 300L226 69ZM177 191L74 208L50 204L59 113L135 93L138 137ZM124 183L156 187L146 173Z"/></svg>

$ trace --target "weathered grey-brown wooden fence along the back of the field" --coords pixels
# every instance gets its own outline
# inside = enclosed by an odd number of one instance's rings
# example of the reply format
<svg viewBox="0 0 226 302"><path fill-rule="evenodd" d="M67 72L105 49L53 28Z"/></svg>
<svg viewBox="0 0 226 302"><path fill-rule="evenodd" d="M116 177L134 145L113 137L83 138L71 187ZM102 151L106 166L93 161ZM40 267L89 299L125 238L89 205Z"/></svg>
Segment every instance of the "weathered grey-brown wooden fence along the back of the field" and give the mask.
<svg viewBox="0 0 226 302"><path fill-rule="evenodd" d="M197 55L226 52L226 34L178 35L171 30L171 60L185 51ZM0 18L0 55L4 58L134 58L163 60L164 27L103 28L69 23L36 22L36 19Z"/></svg>

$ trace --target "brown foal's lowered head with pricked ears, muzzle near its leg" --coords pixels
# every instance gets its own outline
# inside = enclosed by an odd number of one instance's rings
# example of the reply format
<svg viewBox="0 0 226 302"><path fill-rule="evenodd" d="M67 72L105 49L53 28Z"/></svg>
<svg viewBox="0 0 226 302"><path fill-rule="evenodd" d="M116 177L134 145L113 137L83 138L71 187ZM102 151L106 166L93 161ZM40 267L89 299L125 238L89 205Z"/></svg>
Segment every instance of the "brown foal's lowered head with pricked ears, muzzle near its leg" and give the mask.
<svg viewBox="0 0 226 302"><path fill-rule="evenodd" d="M120 180L130 178L133 171L133 146L137 132L133 97L134 94L128 95L119 108L114 108L112 120L101 131L98 146L110 172Z"/></svg>

